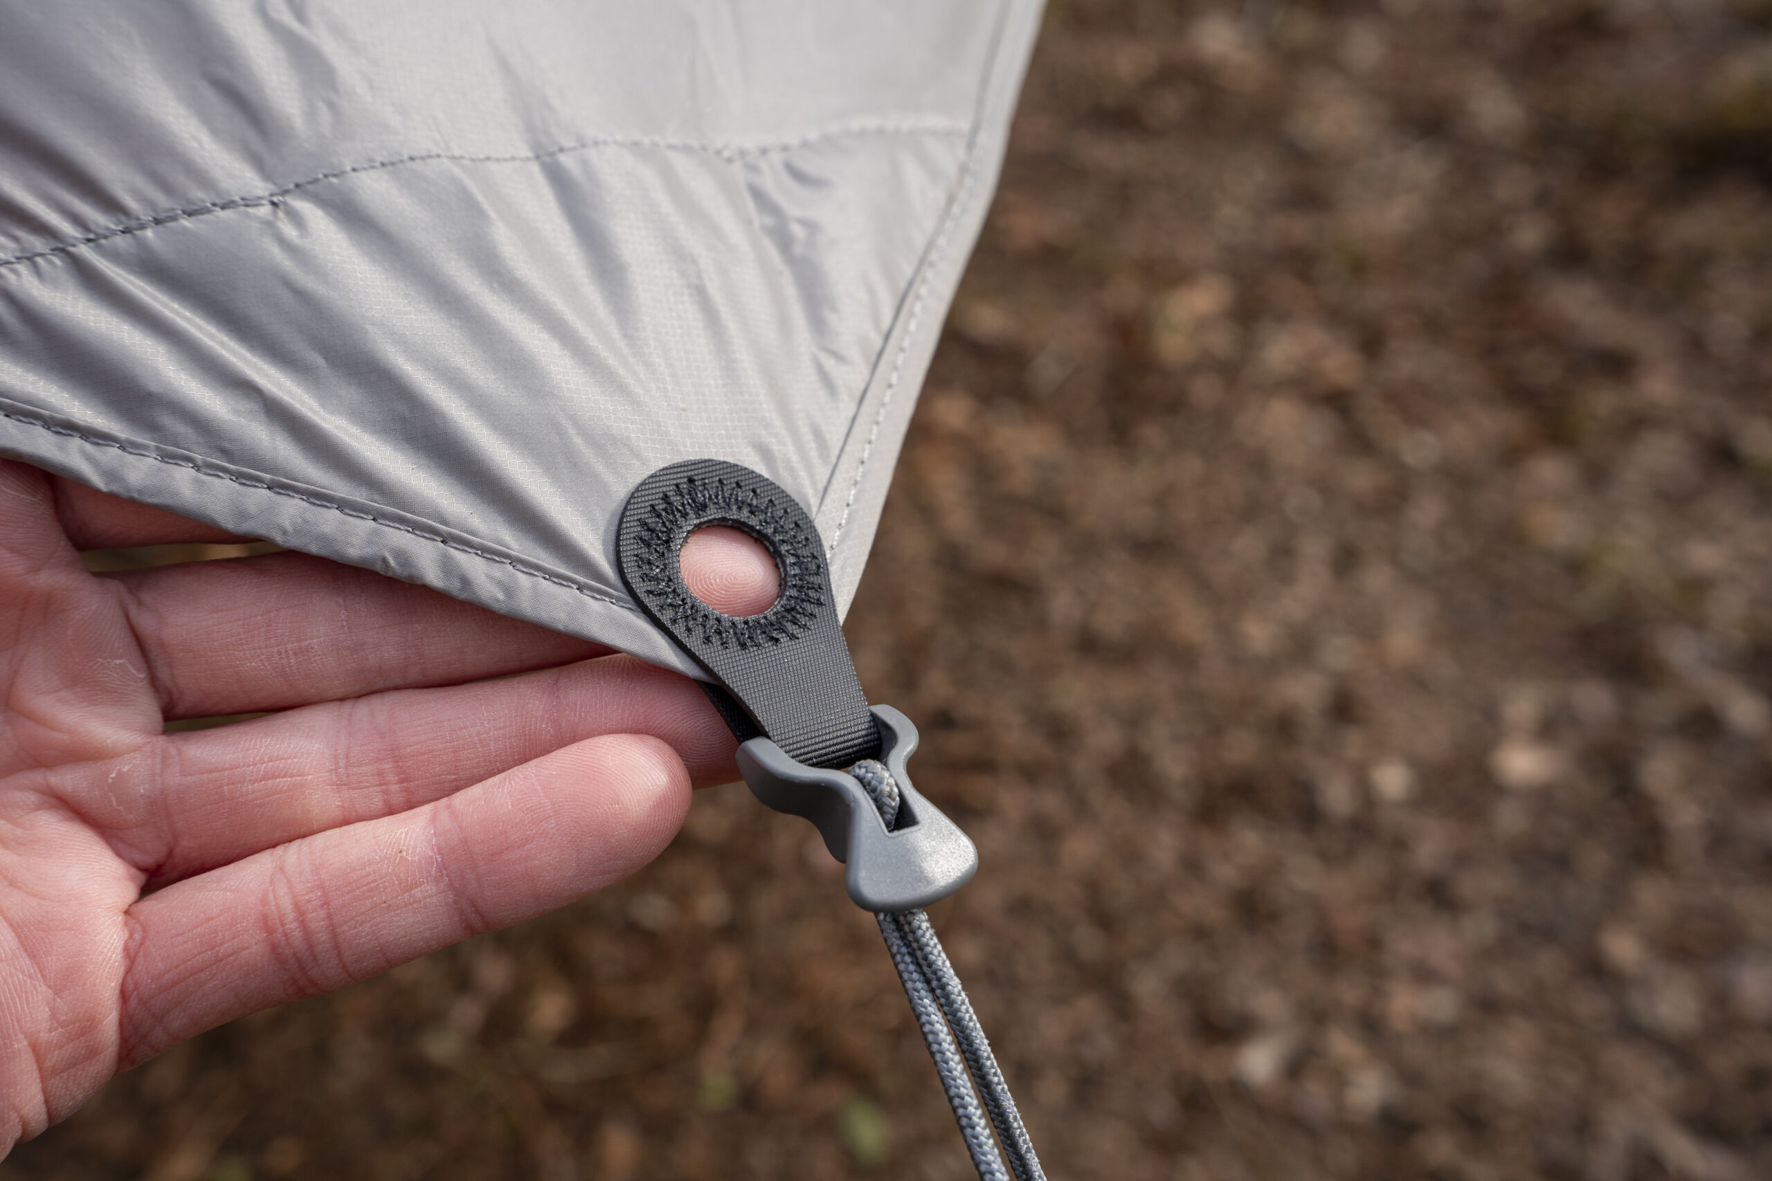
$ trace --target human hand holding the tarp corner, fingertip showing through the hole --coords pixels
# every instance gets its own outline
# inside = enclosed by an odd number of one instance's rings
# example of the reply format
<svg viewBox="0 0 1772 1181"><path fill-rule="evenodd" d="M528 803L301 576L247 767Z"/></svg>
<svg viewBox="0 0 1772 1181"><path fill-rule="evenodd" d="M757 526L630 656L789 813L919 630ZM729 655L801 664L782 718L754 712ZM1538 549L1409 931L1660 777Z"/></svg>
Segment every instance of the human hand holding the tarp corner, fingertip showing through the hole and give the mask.
<svg viewBox="0 0 1772 1181"><path fill-rule="evenodd" d="M220 540L0 460L0 1156L206 1029L627 876L735 777L695 683L608 648L307 554L78 554ZM682 567L774 602L735 531Z"/></svg>

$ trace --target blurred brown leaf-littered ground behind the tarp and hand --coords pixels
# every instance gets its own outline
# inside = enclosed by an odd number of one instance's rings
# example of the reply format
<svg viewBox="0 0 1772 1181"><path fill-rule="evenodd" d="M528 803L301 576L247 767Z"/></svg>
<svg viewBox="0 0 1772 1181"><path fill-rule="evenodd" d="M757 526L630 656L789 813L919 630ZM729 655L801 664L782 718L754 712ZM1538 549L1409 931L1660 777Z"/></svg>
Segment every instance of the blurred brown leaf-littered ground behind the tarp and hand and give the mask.
<svg viewBox="0 0 1772 1181"><path fill-rule="evenodd" d="M1056 4L849 621L1060 1177L1772 1176L1772 4ZM638 878L0 1177L964 1177L872 921Z"/></svg>

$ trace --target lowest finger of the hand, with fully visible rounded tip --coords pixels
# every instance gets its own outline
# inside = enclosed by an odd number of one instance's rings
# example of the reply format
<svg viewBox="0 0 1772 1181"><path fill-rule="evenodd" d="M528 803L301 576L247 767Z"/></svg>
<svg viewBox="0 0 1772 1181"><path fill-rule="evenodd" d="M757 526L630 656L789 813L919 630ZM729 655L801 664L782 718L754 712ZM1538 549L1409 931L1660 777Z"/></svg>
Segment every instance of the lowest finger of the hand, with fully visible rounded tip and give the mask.
<svg viewBox="0 0 1772 1181"><path fill-rule="evenodd" d="M656 857L688 806L663 742L592 738L151 894L129 908L120 1066L597 891Z"/></svg>

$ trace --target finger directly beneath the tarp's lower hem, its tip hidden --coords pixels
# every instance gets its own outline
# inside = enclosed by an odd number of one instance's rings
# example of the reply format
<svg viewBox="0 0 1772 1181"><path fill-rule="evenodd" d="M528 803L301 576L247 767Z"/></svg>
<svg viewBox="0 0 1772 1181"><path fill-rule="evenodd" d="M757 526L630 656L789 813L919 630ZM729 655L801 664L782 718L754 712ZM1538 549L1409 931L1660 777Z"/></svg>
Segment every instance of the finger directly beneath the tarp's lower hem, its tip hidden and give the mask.
<svg viewBox="0 0 1772 1181"><path fill-rule="evenodd" d="M170 717L284 710L583 660L608 648L308 554L106 575Z"/></svg>

